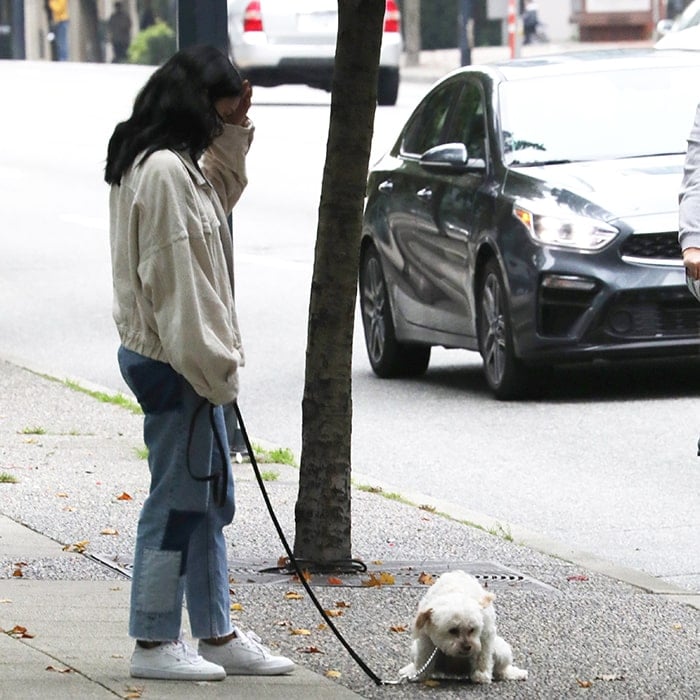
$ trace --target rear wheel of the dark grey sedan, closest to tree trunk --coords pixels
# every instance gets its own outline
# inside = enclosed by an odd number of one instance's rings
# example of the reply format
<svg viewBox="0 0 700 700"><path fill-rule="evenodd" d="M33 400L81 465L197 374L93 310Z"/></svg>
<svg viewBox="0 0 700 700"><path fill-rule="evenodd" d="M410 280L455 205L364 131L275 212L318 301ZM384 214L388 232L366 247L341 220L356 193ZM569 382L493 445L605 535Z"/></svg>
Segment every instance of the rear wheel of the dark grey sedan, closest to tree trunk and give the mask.
<svg viewBox="0 0 700 700"><path fill-rule="evenodd" d="M362 256L360 306L367 356L374 373L385 378L423 374L430 362L430 346L396 339L382 264L374 247Z"/></svg>

